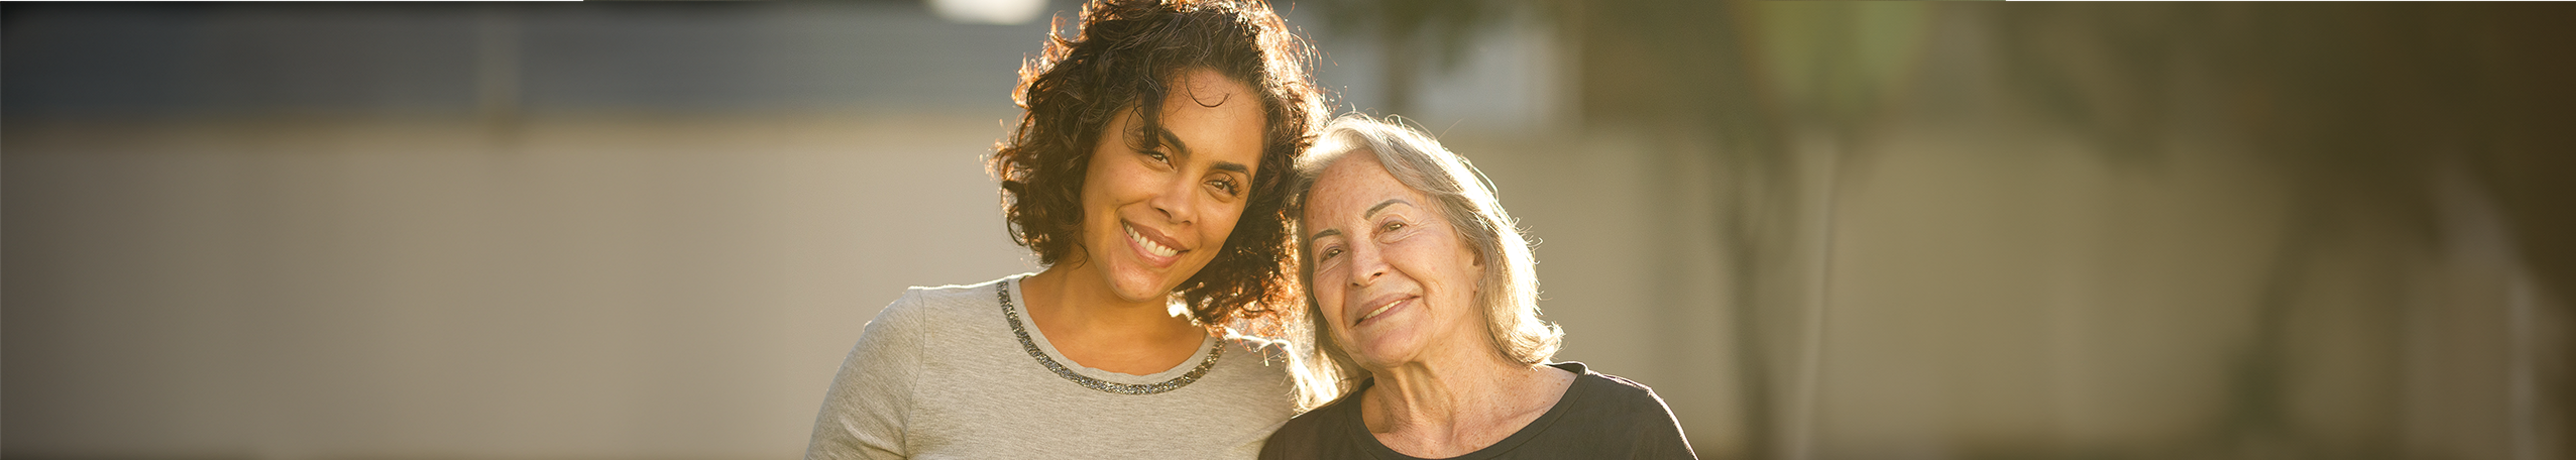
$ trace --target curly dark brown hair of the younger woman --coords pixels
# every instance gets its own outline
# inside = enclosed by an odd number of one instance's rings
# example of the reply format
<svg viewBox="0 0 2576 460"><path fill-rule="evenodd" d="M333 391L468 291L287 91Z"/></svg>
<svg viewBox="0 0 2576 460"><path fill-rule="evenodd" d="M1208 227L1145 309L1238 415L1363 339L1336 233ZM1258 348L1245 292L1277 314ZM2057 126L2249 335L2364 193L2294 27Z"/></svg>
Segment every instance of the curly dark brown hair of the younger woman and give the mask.
<svg viewBox="0 0 2576 460"><path fill-rule="evenodd" d="M1082 28L1064 36L1064 18L1046 51L1020 67L1012 103L1025 113L987 167L1002 180L1010 236L1038 252L1041 265L1079 252L1082 177L1108 123L1126 108L1154 108L1188 69L1213 69L1260 93L1262 159L1244 216L1208 267L1175 293L1206 326L1247 321L1275 332L1298 306L1288 218L1293 157L1314 144L1324 98L1309 80L1311 49L1260 0L1092 0ZM1136 111L1139 131L1157 131L1157 111ZM1159 136L1133 136L1154 149Z"/></svg>

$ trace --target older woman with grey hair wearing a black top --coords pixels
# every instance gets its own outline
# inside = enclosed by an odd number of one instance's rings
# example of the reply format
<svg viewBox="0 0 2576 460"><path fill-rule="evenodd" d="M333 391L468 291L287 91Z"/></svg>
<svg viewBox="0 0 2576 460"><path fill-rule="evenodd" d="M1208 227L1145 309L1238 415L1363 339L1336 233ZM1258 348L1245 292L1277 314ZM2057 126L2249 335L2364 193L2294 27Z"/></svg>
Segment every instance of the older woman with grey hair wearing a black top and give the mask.
<svg viewBox="0 0 2576 460"><path fill-rule="evenodd" d="M1298 159L1311 324L1301 385L1332 398L1262 457L1695 457L1651 388L1548 362L1528 239L1463 157L1342 116Z"/></svg>

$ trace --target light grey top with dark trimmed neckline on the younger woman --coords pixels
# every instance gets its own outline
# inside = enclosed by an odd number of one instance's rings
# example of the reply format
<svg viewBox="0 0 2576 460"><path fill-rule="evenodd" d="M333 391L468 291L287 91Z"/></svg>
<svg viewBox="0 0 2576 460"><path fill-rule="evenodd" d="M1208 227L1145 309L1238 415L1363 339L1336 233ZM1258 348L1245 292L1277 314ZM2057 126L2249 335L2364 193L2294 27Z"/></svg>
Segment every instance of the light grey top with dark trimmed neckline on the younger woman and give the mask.
<svg viewBox="0 0 2576 460"><path fill-rule="evenodd" d="M912 288L876 314L840 362L806 460L842 457L1255 457L1296 411L1283 347L1208 337L1154 375L1082 367L1028 321L1018 280ZM999 301L1010 285L1010 314ZM1167 393L1108 393L1033 357L1108 383L1167 383L1224 347L1198 380Z"/></svg>

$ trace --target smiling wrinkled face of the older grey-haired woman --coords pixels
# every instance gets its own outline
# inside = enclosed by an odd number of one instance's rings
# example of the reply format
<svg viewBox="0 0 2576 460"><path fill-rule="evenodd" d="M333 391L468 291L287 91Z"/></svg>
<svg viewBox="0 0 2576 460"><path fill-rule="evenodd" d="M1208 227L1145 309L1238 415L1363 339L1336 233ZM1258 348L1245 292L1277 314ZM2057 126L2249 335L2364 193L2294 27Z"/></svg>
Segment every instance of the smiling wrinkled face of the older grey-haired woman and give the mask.
<svg viewBox="0 0 2576 460"><path fill-rule="evenodd" d="M1319 326L1360 367L1492 349L1476 306L1484 265L1440 203L1396 182L1376 154L1327 167L1301 218Z"/></svg>

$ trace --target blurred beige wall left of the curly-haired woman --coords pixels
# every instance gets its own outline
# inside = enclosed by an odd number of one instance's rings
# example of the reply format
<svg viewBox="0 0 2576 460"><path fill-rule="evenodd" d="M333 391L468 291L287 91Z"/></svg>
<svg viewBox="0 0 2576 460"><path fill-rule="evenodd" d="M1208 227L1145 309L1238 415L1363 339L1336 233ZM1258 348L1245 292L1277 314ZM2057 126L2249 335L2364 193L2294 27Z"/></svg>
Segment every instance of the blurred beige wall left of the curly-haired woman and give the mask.
<svg viewBox="0 0 2576 460"><path fill-rule="evenodd" d="M13 126L0 445L793 457L878 306L1030 267L989 126Z"/></svg>

